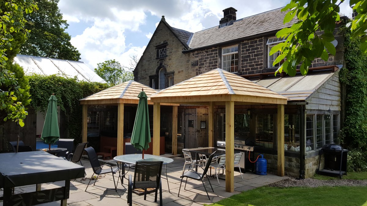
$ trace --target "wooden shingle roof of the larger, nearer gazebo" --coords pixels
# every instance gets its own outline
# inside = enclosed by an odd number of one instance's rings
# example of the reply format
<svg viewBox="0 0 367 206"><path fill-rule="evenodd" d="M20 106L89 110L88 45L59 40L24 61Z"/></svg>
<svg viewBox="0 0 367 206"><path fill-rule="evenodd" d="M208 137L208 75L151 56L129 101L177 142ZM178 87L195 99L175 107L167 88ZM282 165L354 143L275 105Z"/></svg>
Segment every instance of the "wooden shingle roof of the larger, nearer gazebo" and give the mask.
<svg viewBox="0 0 367 206"><path fill-rule="evenodd" d="M153 99L174 99L175 97L184 97L188 99L188 102L195 102L196 99L206 101L203 99L215 96L218 97L218 99L216 99L217 101L224 101L224 99L228 100L229 96L232 95L246 96L249 100L248 102L287 102L287 98L284 96L222 69L214 69L180 82L172 87L155 93L150 96L150 98L153 102L156 102L156 100Z"/></svg>

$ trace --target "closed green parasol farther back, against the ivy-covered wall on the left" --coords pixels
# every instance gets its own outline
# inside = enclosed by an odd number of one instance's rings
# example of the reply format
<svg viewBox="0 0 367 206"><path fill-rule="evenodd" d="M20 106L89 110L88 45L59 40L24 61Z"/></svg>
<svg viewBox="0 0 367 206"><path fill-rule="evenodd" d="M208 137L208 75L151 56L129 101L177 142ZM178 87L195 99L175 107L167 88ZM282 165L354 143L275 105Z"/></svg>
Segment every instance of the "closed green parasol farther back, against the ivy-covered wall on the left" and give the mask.
<svg viewBox="0 0 367 206"><path fill-rule="evenodd" d="M51 144L56 143L60 138L59 122L57 115L57 99L54 94L48 99L48 107L43 125L41 139L48 144L48 150L51 149Z"/></svg>

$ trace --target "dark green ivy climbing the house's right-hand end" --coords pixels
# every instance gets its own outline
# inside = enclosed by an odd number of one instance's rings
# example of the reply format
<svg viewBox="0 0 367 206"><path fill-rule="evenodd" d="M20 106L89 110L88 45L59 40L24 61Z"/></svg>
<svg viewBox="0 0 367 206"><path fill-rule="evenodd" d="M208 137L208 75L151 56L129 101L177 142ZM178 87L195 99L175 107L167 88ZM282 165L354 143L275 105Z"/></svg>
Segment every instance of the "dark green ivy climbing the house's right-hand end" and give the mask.
<svg viewBox="0 0 367 206"><path fill-rule="evenodd" d="M360 39L345 33L345 65L340 80L346 86L346 118L341 132L342 143L367 150L367 56L360 50Z"/></svg>

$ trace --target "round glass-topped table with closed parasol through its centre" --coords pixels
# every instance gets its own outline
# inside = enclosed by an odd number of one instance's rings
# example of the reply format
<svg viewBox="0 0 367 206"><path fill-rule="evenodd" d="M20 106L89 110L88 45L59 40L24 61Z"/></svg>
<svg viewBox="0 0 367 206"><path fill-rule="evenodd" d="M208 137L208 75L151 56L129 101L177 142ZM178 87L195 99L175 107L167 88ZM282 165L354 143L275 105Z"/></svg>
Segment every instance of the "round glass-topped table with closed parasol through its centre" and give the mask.
<svg viewBox="0 0 367 206"><path fill-rule="evenodd" d="M128 165L135 165L136 162L150 162L150 161L163 161L163 165L166 166L165 168L165 173L166 173L166 179L167 180L167 185L168 185L168 192L171 193L170 191L170 184L168 184L168 176L167 176L167 164L173 162L173 159L168 158L168 157L161 157L161 156L157 156L157 155L150 155L150 154L144 154L144 159L142 159L142 154L126 154L126 155L119 155L113 158L114 160L121 162L121 163L126 163ZM123 183L123 178L125 177L125 166L124 164L121 165L121 169L122 169L122 174L120 176L121 179L121 184Z"/></svg>

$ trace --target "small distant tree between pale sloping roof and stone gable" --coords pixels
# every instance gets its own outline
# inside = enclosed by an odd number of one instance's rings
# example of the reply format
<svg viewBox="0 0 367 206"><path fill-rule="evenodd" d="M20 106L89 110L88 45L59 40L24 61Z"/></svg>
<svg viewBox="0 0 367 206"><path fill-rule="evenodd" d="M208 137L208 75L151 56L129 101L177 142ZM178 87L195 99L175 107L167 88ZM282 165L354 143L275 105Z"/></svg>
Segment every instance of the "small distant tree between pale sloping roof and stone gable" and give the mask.
<svg viewBox="0 0 367 206"><path fill-rule="evenodd" d="M97 65L98 67L94 69L95 73L111 86L134 79L134 74L129 70L125 70L124 66L121 66L115 59Z"/></svg>

